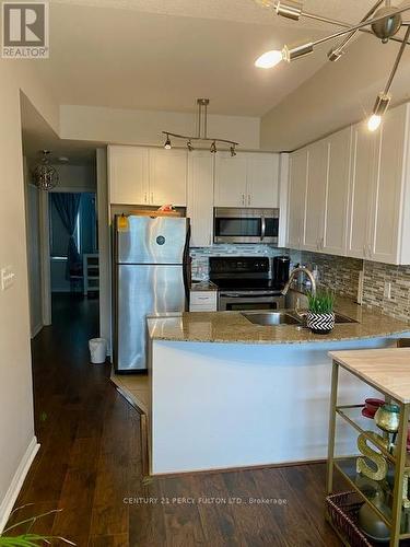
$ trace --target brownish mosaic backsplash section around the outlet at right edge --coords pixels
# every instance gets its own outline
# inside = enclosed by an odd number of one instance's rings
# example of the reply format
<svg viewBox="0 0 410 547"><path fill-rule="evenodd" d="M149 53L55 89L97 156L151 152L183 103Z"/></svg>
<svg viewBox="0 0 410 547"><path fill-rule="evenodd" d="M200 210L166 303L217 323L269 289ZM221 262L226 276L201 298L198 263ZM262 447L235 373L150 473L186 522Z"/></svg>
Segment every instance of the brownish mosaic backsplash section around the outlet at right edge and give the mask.
<svg viewBox="0 0 410 547"><path fill-rule="evenodd" d="M390 298L385 286L390 283ZM363 304L397 319L410 319L410 266L364 263Z"/></svg>

